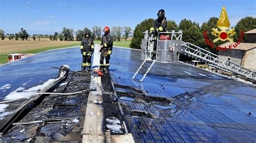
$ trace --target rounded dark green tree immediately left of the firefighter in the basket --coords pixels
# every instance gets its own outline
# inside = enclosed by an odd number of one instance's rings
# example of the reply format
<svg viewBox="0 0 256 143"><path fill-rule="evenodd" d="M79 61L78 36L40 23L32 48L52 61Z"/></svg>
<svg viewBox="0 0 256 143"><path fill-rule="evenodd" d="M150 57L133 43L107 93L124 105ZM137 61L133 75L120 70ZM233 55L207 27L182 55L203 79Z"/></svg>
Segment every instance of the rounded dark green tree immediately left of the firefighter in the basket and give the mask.
<svg viewBox="0 0 256 143"><path fill-rule="evenodd" d="M152 26L152 23L154 22L154 19L145 19L143 22L138 24L134 28L133 32L133 38L131 40L130 48L136 48L140 49L140 45L142 44L142 39L144 38L144 33L146 30L150 30L150 27Z"/></svg>

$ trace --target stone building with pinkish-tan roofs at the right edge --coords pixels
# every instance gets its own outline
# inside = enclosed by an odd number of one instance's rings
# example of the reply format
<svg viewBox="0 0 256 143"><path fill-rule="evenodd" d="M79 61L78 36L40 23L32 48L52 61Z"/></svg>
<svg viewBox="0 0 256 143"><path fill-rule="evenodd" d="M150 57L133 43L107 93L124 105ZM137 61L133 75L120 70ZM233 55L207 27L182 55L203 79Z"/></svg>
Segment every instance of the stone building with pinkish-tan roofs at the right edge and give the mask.
<svg viewBox="0 0 256 143"><path fill-rule="evenodd" d="M219 56L224 59L231 60L245 68L256 70L256 29L245 32L247 41L241 42L237 47L227 49L227 51L219 51ZM220 47L227 47L235 42L227 42Z"/></svg>

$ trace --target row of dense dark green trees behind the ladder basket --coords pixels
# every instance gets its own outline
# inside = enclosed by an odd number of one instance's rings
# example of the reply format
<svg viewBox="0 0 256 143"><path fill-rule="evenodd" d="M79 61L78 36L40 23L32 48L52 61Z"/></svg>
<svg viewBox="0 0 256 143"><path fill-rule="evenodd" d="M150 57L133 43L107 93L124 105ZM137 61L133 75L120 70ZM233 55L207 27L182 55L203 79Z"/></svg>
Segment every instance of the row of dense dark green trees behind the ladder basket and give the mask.
<svg viewBox="0 0 256 143"><path fill-rule="evenodd" d="M154 19L145 19L143 22L138 24L133 32L133 38L131 40L130 47L140 49L140 44L142 39L144 38L144 34L142 32L149 30L152 26ZM215 39L214 35L211 34L212 28L217 28L217 17L211 17L207 22L204 22L201 26L199 23L192 22L189 19L183 19L177 25L173 20L167 21L167 31L171 30L183 30L182 40L185 42L191 42L194 45L202 47L207 51L218 53L215 48L211 48L210 46L206 45L204 42L203 32L207 31L209 35L209 39ZM250 31L256 28L256 18L253 17L245 17L239 20L239 22L234 26L235 28L235 35L233 35L234 41L237 41L239 38L240 32L243 31ZM247 39L246 35L242 42L245 42ZM218 41L215 43L216 45L221 45L223 42Z"/></svg>

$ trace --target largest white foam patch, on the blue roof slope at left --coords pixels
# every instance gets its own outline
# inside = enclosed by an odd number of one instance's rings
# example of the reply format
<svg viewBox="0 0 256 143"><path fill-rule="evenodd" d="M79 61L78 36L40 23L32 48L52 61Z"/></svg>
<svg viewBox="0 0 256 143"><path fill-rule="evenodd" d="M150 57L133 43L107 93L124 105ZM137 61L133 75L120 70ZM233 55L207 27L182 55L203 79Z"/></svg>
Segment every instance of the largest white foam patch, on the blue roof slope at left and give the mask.
<svg viewBox="0 0 256 143"><path fill-rule="evenodd" d="M50 79L44 82L41 85L37 85L35 87L24 90L24 87L19 87L15 91L12 91L9 95L4 97L4 100L13 100L13 99L21 99L21 98L29 98L29 95L35 94L37 91L45 88L49 83L51 83L54 79Z"/></svg>

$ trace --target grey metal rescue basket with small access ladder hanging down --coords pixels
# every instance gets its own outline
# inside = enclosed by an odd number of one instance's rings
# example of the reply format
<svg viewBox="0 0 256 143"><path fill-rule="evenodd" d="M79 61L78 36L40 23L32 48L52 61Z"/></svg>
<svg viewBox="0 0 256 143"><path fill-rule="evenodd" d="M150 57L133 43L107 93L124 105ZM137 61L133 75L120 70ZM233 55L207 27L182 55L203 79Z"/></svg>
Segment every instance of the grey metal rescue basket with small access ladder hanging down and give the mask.
<svg viewBox="0 0 256 143"><path fill-rule="evenodd" d="M182 38L182 31L160 32L159 34L170 35L170 40L153 40L152 35L149 37L149 31L145 31L142 39L142 52L140 59L144 60L142 65L133 75L132 79L143 81L155 62L170 63L179 60L179 51ZM159 34L157 39L159 38ZM153 45L157 42L156 60L152 60Z"/></svg>

